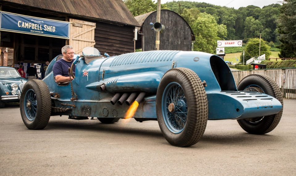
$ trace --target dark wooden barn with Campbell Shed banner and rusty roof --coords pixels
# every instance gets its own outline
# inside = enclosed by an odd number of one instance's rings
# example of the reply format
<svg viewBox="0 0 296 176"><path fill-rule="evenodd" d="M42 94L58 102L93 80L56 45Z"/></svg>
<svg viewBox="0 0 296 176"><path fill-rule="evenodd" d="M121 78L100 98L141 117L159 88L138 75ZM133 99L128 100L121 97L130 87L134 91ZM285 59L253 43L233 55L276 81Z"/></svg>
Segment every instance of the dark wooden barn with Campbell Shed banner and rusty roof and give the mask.
<svg viewBox="0 0 296 176"><path fill-rule="evenodd" d="M0 8L0 49L13 51L7 63L15 65L44 64L66 44L77 54L84 47L110 56L134 52L140 26L122 0L1 0Z"/></svg>

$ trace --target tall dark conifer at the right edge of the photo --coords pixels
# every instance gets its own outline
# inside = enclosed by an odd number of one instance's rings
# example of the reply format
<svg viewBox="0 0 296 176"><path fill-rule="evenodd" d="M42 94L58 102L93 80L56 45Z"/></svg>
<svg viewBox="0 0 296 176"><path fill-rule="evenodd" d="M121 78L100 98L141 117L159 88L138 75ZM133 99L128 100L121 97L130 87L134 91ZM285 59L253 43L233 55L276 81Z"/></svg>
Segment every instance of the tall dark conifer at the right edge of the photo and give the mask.
<svg viewBox="0 0 296 176"><path fill-rule="evenodd" d="M280 57L296 57L296 0L284 0L281 15L277 20L280 45Z"/></svg>

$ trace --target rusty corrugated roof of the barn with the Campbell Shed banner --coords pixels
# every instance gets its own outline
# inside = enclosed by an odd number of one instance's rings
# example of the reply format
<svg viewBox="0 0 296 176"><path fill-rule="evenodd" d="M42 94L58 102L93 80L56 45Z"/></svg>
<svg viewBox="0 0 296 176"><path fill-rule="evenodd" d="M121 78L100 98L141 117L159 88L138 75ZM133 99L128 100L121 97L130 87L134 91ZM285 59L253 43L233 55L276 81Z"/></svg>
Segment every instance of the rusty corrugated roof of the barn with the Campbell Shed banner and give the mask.
<svg viewBox="0 0 296 176"><path fill-rule="evenodd" d="M139 26L122 0L1 0L26 6Z"/></svg>

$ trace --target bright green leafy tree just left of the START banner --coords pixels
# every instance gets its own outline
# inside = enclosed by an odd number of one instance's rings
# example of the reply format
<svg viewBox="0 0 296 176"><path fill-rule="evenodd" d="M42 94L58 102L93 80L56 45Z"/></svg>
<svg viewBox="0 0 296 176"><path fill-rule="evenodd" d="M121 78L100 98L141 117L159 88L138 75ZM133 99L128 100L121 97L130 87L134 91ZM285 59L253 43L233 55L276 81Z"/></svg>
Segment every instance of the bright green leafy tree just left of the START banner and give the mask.
<svg viewBox="0 0 296 176"><path fill-rule="evenodd" d="M226 38L225 25L218 25L216 19L209 14L200 13L192 25L195 35L194 51L212 53L216 50L217 40Z"/></svg>

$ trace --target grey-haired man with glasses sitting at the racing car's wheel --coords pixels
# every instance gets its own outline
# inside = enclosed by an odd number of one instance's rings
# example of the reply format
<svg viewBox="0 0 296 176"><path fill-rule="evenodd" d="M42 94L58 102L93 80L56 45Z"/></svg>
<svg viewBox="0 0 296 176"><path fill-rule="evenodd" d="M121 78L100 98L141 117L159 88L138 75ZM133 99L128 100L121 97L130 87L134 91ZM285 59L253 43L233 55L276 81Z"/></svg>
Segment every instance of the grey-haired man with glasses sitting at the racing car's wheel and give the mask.
<svg viewBox="0 0 296 176"><path fill-rule="evenodd" d="M52 72L56 82L69 82L73 77L69 76L68 68L73 63L74 51L73 47L66 45L62 48L63 58L56 61L53 65ZM73 66L73 74L75 76L75 65Z"/></svg>

